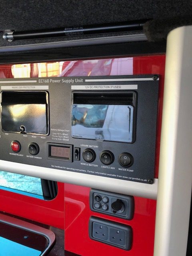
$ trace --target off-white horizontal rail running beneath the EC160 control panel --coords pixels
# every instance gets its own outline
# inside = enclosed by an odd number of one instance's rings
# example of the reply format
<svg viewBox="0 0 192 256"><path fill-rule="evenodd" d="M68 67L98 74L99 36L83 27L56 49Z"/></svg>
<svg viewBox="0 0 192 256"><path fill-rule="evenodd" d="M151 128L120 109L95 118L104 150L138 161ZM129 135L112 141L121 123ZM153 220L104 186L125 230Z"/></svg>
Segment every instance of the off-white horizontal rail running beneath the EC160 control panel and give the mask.
<svg viewBox="0 0 192 256"><path fill-rule="evenodd" d="M120 194L139 196L144 198L156 199L158 179L154 179L153 184L134 182L130 180L118 180L114 178L70 172L67 170L58 170L33 166L28 164L19 164L0 160L0 170L14 172L18 174L33 176L46 180L76 184L89 188L113 191Z"/></svg>

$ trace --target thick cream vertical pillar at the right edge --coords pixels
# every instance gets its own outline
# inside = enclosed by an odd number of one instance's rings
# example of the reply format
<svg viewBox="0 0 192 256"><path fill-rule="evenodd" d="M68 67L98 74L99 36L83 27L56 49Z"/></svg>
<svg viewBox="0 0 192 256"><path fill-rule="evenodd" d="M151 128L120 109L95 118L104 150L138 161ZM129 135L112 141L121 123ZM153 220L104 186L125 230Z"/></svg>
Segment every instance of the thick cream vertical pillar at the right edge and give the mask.
<svg viewBox="0 0 192 256"><path fill-rule="evenodd" d="M192 26L167 37L154 256L185 256L192 190Z"/></svg>

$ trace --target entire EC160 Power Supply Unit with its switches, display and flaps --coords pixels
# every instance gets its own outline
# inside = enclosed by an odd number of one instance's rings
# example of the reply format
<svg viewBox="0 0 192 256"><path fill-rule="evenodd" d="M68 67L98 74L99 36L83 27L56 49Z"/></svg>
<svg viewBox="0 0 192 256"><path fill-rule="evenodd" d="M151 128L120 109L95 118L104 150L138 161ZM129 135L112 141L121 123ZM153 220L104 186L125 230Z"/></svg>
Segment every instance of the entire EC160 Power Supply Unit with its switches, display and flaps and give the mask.
<svg viewBox="0 0 192 256"><path fill-rule="evenodd" d="M158 80L1 79L0 159L152 184Z"/></svg>

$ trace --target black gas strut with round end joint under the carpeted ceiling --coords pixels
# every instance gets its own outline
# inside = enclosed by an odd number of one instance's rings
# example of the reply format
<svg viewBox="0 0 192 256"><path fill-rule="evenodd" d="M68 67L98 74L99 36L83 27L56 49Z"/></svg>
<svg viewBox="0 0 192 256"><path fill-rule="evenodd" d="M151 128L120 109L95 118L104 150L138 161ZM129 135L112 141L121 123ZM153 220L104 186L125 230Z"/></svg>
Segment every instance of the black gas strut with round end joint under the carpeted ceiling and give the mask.
<svg viewBox="0 0 192 256"><path fill-rule="evenodd" d="M118 22L108 24L86 25L67 28L52 28L32 31L16 32L13 30L4 31L3 39L11 42L12 40L50 38L60 36L82 36L90 34L104 34L115 32L127 32L142 30L143 25L148 20L136 20L129 22Z"/></svg>

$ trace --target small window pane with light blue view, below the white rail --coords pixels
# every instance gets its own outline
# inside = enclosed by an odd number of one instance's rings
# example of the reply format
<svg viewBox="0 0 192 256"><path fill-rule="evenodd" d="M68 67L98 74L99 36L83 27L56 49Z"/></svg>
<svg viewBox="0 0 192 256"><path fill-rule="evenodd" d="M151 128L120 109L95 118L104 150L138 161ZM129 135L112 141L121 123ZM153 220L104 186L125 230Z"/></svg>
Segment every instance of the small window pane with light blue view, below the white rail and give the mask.
<svg viewBox="0 0 192 256"><path fill-rule="evenodd" d="M0 188L43 199L40 178L0 171Z"/></svg>

